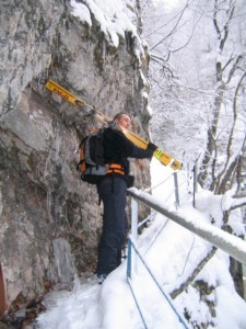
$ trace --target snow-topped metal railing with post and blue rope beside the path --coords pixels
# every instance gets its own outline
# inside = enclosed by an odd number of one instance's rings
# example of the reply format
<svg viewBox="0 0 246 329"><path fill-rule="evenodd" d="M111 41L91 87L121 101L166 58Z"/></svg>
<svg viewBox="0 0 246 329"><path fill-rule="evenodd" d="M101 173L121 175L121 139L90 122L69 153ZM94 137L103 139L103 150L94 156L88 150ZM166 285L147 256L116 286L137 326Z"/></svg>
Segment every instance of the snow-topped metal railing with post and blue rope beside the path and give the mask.
<svg viewBox="0 0 246 329"><path fill-rule="evenodd" d="M175 181L175 180L174 180ZM196 194L196 185L194 184L194 206L195 206L195 194ZM144 314L141 310L140 304L136 297L134 290L131 283L131 276L132 273L137 273L137 257L141 260L144 268L151 275L153 282L156 284L165 299L171 305L172 309L178 317L179 321L183 324L184 328L188 328L186 320L178 314L176 308L174 307L174 304L172 303L172 299L165 294L163 291L161 284L155 279L154 273L151 271L150 266L144 261L143 256L138 249L138 202L141 202L152 209L154 209L157 213L161 213L162 215L166 216L167 218L174 220L175 223L179 224L180 226L187 228L188 230L192 231L197 236L201 237L202 239L209 241L214 247L225 251L239 262L246 264L246 242L242 240L241 238L237 238L235 236L232 236L231 234L223 231L222 229L208 224L203 223L196 218L187 218L178 215L177 213L171 212L165 207L165 205L160 204L160 202L156 202L154 196L147 192L139 191L136 188L131 188L128 190L128 194L132 196L131 198L131 236L129 236L128 240L128 262L127 262L127 281L130 285L131 293L133 295L136 305L138 307L139 314L141 316L142 322L144 325L144 328L148 329L147 321L144 319ZM176 194L176 193L175 193ZM179 195L178 195L179 197ZM177 196L176 196L177 201ZM145 223L143 220L142 223ZM133 249L133 250L132 250Z"/></svg>

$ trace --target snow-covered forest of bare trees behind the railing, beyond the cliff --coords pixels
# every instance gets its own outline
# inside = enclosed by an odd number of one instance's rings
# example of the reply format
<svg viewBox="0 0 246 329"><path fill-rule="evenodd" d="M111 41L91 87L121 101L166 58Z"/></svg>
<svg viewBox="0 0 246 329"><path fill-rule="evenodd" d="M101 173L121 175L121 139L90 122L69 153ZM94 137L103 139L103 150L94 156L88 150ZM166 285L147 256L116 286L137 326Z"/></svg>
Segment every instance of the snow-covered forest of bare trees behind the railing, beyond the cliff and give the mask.
<svg viewBox="0 0 246 329"><path fill-rule="evenodd" d="M141 16L154 141L189 166L198 161L202 188L244 196L245 2L141 1Z"/></svg>

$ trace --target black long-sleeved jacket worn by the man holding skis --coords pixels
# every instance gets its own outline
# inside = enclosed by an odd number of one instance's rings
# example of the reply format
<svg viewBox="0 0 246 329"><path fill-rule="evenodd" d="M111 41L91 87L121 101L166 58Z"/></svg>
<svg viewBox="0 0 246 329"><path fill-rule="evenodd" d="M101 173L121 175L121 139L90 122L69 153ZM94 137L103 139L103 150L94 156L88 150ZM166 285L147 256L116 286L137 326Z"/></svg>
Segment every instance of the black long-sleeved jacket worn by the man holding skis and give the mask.
<svg viewBox="0 0 246 329"><path fill-rule="evenodd" d="M103 149L105 163L121 164L126 175L130 171L127 158L144 159L153 156L153 150L137 147L122 132L113 128L105 129Z"/></svg>

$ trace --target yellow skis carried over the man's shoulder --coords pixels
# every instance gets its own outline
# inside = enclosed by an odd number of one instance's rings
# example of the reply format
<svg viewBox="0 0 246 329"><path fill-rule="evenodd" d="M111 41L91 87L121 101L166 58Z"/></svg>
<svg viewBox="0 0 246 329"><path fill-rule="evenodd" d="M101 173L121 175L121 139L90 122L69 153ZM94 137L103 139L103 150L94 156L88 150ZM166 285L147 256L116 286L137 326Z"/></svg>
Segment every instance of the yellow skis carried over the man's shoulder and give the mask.
<svg viewBox="0 0 246 329"><path fill-rule="evenodd" d="M80 107L84 112L93 115L97 121L99 121L104 125L109 125L112 123L112 120L101 112L99 110L95 109L94 106L86 103L84 100L75 97L71 92L69 92L67 89L55 82L54 80L48 80L46 83L46 88L50 90L51 92L55 92L59 94L61 98L63 98L67 102ZM131 140L134 145L137 145L140 148L147 149L149 141L142 139L131 131L122 129L122 133L125 136ZM168 154L164 152L160 148L157 148L154 151L154 157L162 162L165 166L169 166L174 170L181 169L181 162L174 159Z"/></svg>

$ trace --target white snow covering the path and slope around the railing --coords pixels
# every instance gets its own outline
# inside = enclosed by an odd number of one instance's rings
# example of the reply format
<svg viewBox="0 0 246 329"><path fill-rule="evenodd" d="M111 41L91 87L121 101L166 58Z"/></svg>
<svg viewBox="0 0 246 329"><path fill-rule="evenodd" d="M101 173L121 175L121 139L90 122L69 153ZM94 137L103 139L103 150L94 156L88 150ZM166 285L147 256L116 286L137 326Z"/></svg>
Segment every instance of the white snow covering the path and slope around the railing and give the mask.
<svg viewBox="0 0 246 329"><path fill-rule="evenodd" d="M152 194L159 202L168 203L175 208L173 198L172 171L152 160ZM181 202L178 212L188 214L203 222L221 223L223 198L213 196L200 190L197 197L197 208L192 207L192 200L187 189L187 174L179 177L181 184ZM237 214L238 215L238 214ZM235 218L238 217L235 215ZM234 219L235 222L237 219ZM237 220L237 229L241 224ZM243 225L242 225L243 227ZM196 237L192 232L179 225L156 215L154 220L139 237L139 249L144 260L156 276L166 294L177 288L191 274L201 259L211 250L211 246ZM42 314L37 324L40 329L176 329L184 328L178 316L167 303L163 294L153 284L149 273L140 261L137 261L137 273L132 273L132 287L142 315L140 317L130 286L127 282L127 261L112 272L106 281L98 285L96 277L91 276L83 281L77 279L72 292L52 292L46 297L48 310ZM207 328L245 329L246 303L234 290L229 273L229 257L216 251L196 277L196 281L207 283L207 295L201 297L194 285L174 300L174 308L190 322L201 327L201 322L210 322ZM211 291L209 288L213 287ZM213 317L209 311L213 307Z"/></svg>

